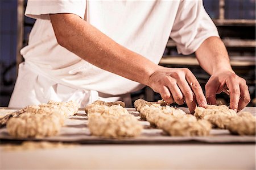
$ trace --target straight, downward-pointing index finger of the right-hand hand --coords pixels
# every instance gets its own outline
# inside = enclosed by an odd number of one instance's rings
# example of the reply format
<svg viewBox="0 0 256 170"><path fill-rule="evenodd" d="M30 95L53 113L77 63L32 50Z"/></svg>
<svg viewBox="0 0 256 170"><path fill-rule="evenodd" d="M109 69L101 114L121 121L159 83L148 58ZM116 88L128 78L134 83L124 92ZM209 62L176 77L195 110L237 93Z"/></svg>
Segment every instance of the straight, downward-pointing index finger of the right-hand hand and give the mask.
<svg viewBox="0 0 256 170"><path fill-rule="evenodd" d="M233 109L237 111L238 109L238 102L240 99L240 85L239 82L237 82L236 78L229 78L229 80L226 81L226 86L229 89L230 92L230 109Z"/></svg>

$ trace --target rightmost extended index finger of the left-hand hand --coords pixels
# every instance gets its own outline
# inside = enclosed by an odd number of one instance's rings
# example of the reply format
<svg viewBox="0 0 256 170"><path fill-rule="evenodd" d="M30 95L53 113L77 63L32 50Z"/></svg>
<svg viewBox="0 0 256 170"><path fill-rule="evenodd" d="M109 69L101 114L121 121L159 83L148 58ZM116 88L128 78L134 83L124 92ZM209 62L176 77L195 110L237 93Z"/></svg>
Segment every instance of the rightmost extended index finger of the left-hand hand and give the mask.
<svg viewBox="0 0 256 170"><path fill-rule="evenodd" d="M203 90L201 88L201 85L197 81L196 77L191 71L188 71L186 74L186 79L191 86L193 93L195 94L196 101L201 107L206 107L207 106L207 100L204 97Z"/></svg>

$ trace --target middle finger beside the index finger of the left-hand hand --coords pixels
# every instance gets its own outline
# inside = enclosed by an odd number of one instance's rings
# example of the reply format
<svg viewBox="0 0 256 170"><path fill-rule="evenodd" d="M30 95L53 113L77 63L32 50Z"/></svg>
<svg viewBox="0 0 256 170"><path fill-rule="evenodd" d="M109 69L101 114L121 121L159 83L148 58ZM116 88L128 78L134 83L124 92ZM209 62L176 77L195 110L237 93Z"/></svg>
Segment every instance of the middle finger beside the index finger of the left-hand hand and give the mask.
<svg viewBox="0 0 256 170"><path fill-rule="evenodd" d="M196 109L196 101L193 98L193 92L188 85L188 82L185 80L180 80L179 82L177 82L177 85L179 86L181 92L184 95L189 111L191 113L194 113L194 110Z"/></svg>

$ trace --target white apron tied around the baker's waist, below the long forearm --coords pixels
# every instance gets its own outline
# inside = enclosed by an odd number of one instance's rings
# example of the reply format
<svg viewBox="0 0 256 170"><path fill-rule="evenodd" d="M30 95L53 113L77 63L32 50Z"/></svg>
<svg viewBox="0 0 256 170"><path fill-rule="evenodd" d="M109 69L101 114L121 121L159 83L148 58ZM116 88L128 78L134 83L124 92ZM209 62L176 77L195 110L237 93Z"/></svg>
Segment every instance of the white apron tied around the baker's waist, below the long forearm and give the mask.
<svg viewBox="0 0 256 170"><path fill-rule="evenodd" d="M122 100L126 106L131 106L130 94L110 97L94 90L78 89L75 86L65 84L65 82L51 80L32 63L23 62L19 65L19 74L9 107L39 105L40 103L47 103L49 100L63 102L74 100L79 103L80 107L85 107L97 99L108 102Z"/></svg>

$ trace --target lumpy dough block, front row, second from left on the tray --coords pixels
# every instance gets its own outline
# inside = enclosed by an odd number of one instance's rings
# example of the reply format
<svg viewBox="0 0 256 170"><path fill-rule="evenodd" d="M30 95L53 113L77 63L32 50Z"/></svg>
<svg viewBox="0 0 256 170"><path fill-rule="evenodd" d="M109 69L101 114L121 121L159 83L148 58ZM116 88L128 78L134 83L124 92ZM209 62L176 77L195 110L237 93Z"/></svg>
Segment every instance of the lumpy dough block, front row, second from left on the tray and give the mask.
<svg viewBox="0 0 256 170"><path fill-rule="evenodd" d="M108 138L134 137L142 131L142 125L131 114L116 116L95 113L89 117L88 128L92 135Z"/></svg>

